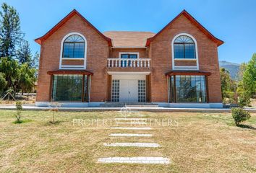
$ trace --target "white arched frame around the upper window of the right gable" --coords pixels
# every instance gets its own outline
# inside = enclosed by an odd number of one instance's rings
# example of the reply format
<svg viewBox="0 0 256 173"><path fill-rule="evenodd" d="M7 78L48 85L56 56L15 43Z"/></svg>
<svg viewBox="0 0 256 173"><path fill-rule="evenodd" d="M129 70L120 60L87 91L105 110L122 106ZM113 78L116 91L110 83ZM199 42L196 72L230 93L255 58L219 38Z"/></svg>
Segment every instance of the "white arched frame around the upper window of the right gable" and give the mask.
<svg viewBox="0 0 256 173"><path fill-rule="evenodd" d="M190 37L194 43L195 43L195 59L189 59L189 58L174 58L174 41L177 37L185 35L187 37ZM172 61L172 69L173 70L199 70L199 61L198 61L198 51L197 51L197 40L195 40L195 37L192 35L189 35L187 33L180 33L178 35L175 35L174 39L171 41L171 61ZM197 61L197 66L175 66L175 61Z"/></svg>

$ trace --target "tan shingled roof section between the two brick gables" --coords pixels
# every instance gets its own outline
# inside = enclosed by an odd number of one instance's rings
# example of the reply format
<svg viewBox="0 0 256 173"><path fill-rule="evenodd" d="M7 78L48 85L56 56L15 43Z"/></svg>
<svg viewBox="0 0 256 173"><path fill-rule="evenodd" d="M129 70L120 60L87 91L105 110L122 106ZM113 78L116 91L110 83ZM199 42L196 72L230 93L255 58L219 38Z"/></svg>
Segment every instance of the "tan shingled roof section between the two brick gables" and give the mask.
<svg viewBox="0 0 256 173"><path fill-rule="evenodd" d="M108 31L103 35L112 39L114 48L146 48L147 38L153 37L153 32Z"/></svg>

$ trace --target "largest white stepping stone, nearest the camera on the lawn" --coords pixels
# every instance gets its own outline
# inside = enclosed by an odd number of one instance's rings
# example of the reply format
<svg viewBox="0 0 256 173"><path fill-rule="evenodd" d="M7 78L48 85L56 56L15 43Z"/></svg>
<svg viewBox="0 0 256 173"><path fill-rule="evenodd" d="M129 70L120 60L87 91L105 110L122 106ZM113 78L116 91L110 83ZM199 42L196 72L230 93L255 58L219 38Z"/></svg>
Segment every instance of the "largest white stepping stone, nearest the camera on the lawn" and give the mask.
<svg viewBox="0 0 256 173"><path fill-rule="evenodd" d="M170 159L164 157L106 157L98 159L98 162L104 164L170 164Z"/></svg>

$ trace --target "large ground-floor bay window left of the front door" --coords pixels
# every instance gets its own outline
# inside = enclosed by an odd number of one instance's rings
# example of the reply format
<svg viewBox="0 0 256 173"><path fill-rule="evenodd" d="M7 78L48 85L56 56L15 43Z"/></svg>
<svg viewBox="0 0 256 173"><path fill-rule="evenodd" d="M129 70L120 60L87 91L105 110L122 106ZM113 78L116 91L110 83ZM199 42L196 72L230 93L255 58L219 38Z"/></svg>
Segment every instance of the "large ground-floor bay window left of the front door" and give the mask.
<svg viewBox="0 0 256 173"><path fill-rule="evenodd" d="M51 100L56 102L88 102L87 75L54 75Z"/></svg>

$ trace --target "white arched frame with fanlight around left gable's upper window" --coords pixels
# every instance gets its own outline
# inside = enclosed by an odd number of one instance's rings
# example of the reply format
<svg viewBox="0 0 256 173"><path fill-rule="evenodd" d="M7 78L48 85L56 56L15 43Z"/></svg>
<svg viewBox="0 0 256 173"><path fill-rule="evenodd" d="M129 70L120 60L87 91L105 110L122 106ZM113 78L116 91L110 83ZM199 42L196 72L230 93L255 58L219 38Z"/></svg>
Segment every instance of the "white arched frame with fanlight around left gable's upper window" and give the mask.
<svg viewBox="0 0 256 173"><path fill-rule="evenodd" d="M74 35L74 36L73 36ZM84 43L84 55L81 57L64 57L64 43ZM62 65L62 61L69 60L83 61L83 65ZM87 60L87 40L84 35L79 32L70 32L65 35L61 40L61 50L59 58L59 69L86 69L86 60Z"/></svg>

